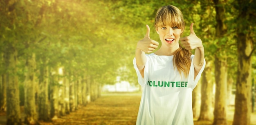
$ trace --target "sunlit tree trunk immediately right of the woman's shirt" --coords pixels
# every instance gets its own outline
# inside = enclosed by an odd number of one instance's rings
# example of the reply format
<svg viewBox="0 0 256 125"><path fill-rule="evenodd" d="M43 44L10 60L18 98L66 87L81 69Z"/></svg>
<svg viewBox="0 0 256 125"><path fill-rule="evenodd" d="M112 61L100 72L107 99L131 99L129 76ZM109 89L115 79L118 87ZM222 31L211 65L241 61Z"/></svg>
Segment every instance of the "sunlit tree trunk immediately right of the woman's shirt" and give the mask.
<svg viewBox="0 0 256 125"><path fill-rule="evenodd" d="M199 82L194 90L192 91L192 109L193 109L193 117L198 118L199 112L200 112L200 88L201 88L201 82Z"/></svg>

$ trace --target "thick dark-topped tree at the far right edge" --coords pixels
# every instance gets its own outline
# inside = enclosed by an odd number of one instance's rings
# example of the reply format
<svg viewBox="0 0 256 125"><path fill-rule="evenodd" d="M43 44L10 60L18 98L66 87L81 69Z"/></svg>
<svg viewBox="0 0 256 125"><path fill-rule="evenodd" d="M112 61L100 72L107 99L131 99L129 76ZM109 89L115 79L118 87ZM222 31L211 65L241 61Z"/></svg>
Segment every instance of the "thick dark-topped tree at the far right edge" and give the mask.
<svg viewBox="0 0 256 125"><path fill-rule="evenodd" d="M238 71L236 78L235 114L233 125L250 125L252 54L255 50L255 0L234 1L237 10L236 39Z"/></svg>

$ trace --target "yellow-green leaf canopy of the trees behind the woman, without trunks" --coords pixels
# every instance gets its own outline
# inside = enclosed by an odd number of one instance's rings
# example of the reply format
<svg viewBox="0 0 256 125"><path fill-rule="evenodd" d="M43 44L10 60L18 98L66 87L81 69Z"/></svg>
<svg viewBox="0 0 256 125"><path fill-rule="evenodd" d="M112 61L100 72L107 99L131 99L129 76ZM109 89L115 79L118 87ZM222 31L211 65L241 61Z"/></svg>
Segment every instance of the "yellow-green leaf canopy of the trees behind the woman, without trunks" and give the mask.
<svg viewBox="0 0 256 125"><path fill-rule="evenodd" d="M249 1L251 2L251 1ZM239 26L251 25L255 41L255 4L231 0L226 3L227 34L215 38L215 6L205 0L10 0L0 2L0 52L7 43L18 49L20 81L24 81L25 59L36 54L37 69L42 66L64 67L76 77L90 75L99 83L115 83L116 77L131 83L137 82L132 59L137 41L150 26L150 38L159 41L155 32L154 17L160 6L173 4L183 13L189 34L194 22L195 33L204 44L205 57L214 60L220 48L227 54L229 67L236 65L236 35ZM220 5L221 6L221 5ZM234 6L234 8L232 7ZM239 9L250 13L240 25L236 23ZM228 41L228 42L227 42ZM45 65L43 60L49 60ZM4 64L1 63L3 72ZM234 73L234 71L231 71Z"/></svg>

